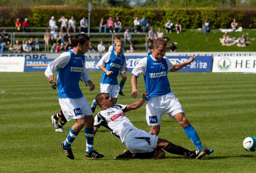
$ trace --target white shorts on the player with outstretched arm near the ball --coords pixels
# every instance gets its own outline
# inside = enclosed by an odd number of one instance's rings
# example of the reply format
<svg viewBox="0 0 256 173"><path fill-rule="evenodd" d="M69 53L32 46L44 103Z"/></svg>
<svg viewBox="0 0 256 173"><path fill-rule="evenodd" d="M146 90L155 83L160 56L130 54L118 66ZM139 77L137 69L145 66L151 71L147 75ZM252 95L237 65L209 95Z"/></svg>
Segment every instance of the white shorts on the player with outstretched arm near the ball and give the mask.
<svg viewBox="0 0 256 173"><path fill-rule="evenodd" d="M146 120L148 125L159 125L162 115L168 114L172 119L178 113L185 113L179 99L174 93L163 96L153 96L146 101ZM175 120L175 119L174 119Z"/></svg>

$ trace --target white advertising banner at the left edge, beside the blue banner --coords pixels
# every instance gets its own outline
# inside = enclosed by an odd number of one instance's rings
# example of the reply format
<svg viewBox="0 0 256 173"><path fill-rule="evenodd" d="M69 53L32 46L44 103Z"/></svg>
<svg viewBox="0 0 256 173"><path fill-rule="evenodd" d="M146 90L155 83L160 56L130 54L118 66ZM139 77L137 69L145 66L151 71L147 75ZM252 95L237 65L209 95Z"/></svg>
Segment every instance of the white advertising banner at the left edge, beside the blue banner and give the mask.
<svg viewBox="0 0 256 173"><path fill-rule="evenodd" d="M25 57L1 57L0 72L24 72Z"/></svg>

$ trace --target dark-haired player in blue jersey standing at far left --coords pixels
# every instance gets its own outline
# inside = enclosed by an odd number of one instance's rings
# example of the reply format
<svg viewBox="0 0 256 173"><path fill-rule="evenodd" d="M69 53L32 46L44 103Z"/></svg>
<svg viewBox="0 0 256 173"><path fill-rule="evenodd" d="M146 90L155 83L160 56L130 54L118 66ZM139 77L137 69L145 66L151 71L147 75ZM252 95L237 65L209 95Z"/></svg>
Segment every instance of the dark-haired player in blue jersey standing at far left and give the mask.
<svg viewBox="0 0 256 173"><path fill-rule="evenodd" d="M75 35L72 38L73 49L62 53L57 59L50 62L45 70L45 76L52 83L56 79L53 72L59 68L57 74L59 103L65 118L68 121L71 119L76 121L70 129L67 139L61 143L62 149L70 159L74 159L71 144L84 126L86 157L89 159L104 157L93 149L94 117L90 105L79 88L79 81L82 79L90 86L90 91L95 89L95 85L85 70L84 54L89 49L89 40L89 36L85 34Z"/></svg>

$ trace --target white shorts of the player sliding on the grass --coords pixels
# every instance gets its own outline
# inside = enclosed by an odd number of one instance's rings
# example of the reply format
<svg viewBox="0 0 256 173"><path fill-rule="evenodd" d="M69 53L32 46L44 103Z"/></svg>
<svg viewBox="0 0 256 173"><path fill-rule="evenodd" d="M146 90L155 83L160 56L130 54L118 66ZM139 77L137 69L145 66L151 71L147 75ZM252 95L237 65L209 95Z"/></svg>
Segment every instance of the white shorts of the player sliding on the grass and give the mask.
<svg viewBox="0 0 256 173"><path fill-rule="evenodd" d="M152 152L156 148L158 137L143 130L130 130L125 137L125 146L133 153Z"/></svg>

